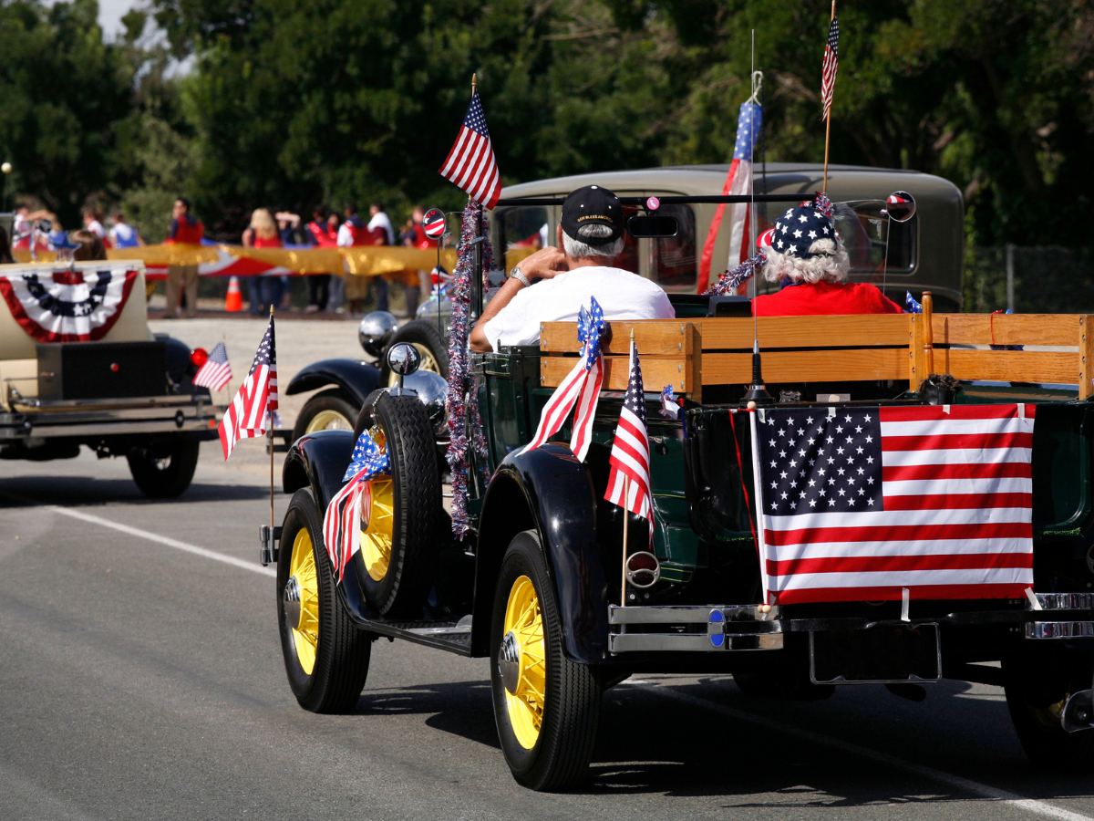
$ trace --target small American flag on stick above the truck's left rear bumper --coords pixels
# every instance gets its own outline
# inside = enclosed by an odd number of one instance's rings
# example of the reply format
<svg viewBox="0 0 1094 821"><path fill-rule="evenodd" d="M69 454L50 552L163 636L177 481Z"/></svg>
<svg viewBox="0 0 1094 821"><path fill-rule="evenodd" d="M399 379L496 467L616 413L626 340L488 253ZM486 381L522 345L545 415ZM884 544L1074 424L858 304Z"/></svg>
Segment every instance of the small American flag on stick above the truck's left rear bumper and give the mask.
<svg viewBox="0 0 1094 821"><path fill-rule="evenodd" d="M650 436L645 429L645 392L638 346L630 340L630 367L615 441L608 456L608 488L604 498L650 521L653 539L653 505L650 497Z"/></svg>

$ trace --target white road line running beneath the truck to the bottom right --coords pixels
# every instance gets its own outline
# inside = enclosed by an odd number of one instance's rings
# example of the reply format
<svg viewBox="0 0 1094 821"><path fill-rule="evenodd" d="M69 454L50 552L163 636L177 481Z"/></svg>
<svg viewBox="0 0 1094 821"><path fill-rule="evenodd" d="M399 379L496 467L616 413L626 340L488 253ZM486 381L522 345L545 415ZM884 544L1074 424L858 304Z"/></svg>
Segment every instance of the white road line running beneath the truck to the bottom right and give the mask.
<svg viewBox="0 0 1094 821"><path fill-rule="evenodd" d="M916 773L917 775L931 778L932 780L942 782L943 784L948 784L951 787L956 787L958 789L964 789L974 795L982 796L984 798L990 798L996 801L1002 801L1003 803L1009 803L1017 809L1025 810L1026 812L1032 812L1035 816L1043 816L1045 818L1060 819L1060 821L1092 821L1094 816L1084 816L1079 812L1072 812L1071 810L1066 810L1061 807L1057 807L1045 801L1038 801L1033 798L1023 798L1014 793L1008 793L1004 789L998 789L996 787L990 787L987 784L980 784L979 782L974 782L969 778L963 778L959 775L953 775L951 773L944 773L941 770L935 770L934 767L923 766L922 764L916 764L911 761L905 761L904 759L898 759L896 755L889 755L888 753L878 752L877 750L871 750L866 747L860 747L859 744L852 744L849 741L840 741L839 739L831 738L830 736L824 736L819 732L814 732L813 730L806 730L801 727L794 727L793 725L783 724L782 721L777 721L772 718L767 718L765 716L757 716L753 713L745 713L744 710L734 709L733 707L726 707L724 705L718 704L717 702L711 702L707 698L700 698L688 693L680 693L670 686L662 686L653 682L624 682L620 686L632 686L638 690L644 690L649 693L655 693L656 695L664 696L665 698L673 698L677 702L683 702L684 704L689 704L694 707L701 707L703 709L709 709L714 713L720 713L729 718L734 718L741 721L748 721L750 724L759 725L778 732L782 732L788 736L794 736L803 741L810 741L814 744L822 744L824 747L834 748L836 750L841 750L843 752L850 753L852 755L858 755L861 758L870 759L871 761L877 761L883 764L888 764L892 767L898 770L905 770L909 773Z"/></svg>

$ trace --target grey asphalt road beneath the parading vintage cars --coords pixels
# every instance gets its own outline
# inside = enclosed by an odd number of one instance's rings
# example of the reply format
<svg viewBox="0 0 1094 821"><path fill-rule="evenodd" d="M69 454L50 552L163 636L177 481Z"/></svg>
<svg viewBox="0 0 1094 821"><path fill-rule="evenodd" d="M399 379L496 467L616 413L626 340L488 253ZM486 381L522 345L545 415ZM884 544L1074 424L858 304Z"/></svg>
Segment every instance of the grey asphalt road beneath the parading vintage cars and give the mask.
<svg viewBox="0 0 1094 821"><path fill-rule="evenodd" d="M978 684L630 680L565 795L509 775L484 660L381 640L353 715L306 713L257 564L268 489L203 447L168 502L124 462L0 462L0 819L1094 819L1094 779L1033 770Z"/></svg>

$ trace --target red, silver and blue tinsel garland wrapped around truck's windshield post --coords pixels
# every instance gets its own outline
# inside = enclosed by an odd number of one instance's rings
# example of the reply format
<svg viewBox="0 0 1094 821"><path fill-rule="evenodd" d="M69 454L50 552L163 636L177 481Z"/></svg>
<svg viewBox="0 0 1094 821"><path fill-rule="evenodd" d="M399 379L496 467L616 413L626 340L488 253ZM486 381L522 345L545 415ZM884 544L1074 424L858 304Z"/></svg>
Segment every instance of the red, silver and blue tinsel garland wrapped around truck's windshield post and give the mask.
<svg viewBox="0 0 1094 821"><path fill-rule="evenodd" d="M456 267L449 280L449 299L452 303L451 324L449 328L449 395L444 409L449 418L449 450L445 455L449 462L449 473L452 476L452 532L459 539L469 530L467 516L467 449L474 447L479 455L479 470L486 464L487 443L482 432L482 420L479 416L478 392L475 379L470 373L470 351L467 349L467 323L470 321L472 276L475 267L475 246L472 244L478 235L478 226L482 219L482 206L472 200L464 208L463 228L459 234L459 248ZM493 267L493 247L487 234L482 241L482 277L484 292L486 275ZM472 441L467 439L468 421L470 423Z"/></svg>

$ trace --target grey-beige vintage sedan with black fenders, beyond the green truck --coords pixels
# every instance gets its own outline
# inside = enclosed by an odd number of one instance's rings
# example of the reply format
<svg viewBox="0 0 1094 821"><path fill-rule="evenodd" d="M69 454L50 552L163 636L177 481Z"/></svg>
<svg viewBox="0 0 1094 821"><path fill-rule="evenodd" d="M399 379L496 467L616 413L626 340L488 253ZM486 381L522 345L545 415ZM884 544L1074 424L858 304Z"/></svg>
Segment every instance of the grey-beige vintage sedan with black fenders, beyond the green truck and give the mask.
<svg viewBox="0 0 1094 821"><path fill-rule="evenodd" d="M766 169L766 173L764 170ZM824 166L817 163L767 163L757 165L759 194L805 197L822 186ZM555 177L508 186L490 215L490 234L496 258L509 271L537 247L555 243L561 207L559 198L583 185L605 185L616 194L644 199L656 196L689 197L688 201L665 201L660 212L677 220L679 230L671 238L628 238L622 267L653 280L670 293L700 293L718 279L730 252L729 216L713 247L708 279L700 275L703 242L718 203L712 195L722 190L728 165L677 165L632 171L612 171ZM891 226L888 264L882 274L885 253L878 193L909 192L917 201L917 219L906 226ZM962 257L965 208L957 187L942 177L900 169L861 165L830 165L828 194L840 203L836 215L851 257L851 278L884 288L897 304L904 304L907 289L930 290L939 311L959 311L962 304ZM699 201L699 200L702 201ZM537 201L538 200L538 201ZM555 200L551 204L550 200ZM780 200L781 201L781 200ZM775 207L777 209L777 207ZM772 216L777 211L772 211ZM760 230L769 228L767 204L757 204ZM930 236L931 242L921 242ZM759 291L773 288L760 282ZM449 375L449 302L430 298L418 308L416 319L401 326L391 314L375 311L361 321L361 347L377 361L325 359L307 366L286 386L292 395L323 388L310 397L295 427L279 432L288 443L316 430L350 430L365 397L377 386L394 384L384 365L386 351L400 342L410 343L422 356L422 370Z"/></svg>

